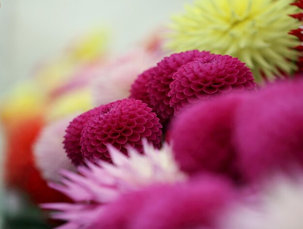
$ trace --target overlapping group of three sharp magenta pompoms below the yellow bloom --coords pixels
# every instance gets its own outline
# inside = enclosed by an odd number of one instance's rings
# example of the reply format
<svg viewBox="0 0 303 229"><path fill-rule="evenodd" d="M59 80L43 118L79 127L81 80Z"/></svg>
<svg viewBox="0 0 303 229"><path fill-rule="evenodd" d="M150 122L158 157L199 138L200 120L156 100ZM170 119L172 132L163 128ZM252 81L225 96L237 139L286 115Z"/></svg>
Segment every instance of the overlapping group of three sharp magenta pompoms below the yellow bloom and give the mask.
<svg viewBox="0 0 303 229"><path fill-rule="evenodd" d="M250 69L237 58L191 50L165 57L139 75L130 98L147 102L165 124L199 100L255 87Z"/></svg>

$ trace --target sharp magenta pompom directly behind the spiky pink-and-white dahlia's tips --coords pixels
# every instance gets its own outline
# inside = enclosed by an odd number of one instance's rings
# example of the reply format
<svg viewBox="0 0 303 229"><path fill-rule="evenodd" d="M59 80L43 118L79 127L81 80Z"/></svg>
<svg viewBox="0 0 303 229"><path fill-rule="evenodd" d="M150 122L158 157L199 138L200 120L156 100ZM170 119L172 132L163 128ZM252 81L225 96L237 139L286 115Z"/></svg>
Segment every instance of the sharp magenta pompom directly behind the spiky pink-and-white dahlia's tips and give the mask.
<svg viewBox="0 0 303 229"><path fill-rule="evenodd" d="M146 103L133 98L117 100L103 106L84 125L80 140L82 156L91 162L110 161L107 150L110 145L123 153L128 148L142 152L142 138L160 147L161 128L159 118Z"/></svg>

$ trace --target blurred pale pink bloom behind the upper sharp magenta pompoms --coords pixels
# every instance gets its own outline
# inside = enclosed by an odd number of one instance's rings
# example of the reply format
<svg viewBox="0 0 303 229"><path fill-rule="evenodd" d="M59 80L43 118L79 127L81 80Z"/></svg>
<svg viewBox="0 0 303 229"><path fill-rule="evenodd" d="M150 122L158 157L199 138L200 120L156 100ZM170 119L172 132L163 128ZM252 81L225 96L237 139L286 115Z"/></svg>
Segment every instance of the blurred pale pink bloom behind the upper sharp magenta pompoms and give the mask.
<svg viewBox="0 0 303 229"><path fill-rule="evenodd" d="M158 56L145 50L136 50L109 62L92 82L94 104L110 103L128 98L137 76L158 61Z"/></svg>

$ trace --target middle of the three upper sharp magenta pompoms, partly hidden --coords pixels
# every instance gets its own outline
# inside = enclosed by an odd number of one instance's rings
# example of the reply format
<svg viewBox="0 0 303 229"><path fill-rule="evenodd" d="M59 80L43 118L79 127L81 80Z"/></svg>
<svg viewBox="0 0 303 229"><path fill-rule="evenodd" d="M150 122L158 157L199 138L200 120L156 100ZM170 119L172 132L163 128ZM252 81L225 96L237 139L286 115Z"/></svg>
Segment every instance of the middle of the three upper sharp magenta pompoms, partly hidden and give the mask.
<svg viewBox="0 0 303 229"><path fill-rule="evenodd" d="M170 107L170 98L168 97L169 84L173 81L173 74L182 65L209 55L209 52L198 50L175 53L165 57L154 68L148 83L148 93L151 99L151 107L162 122L165 122L174 113L173 108Z"/></svg>

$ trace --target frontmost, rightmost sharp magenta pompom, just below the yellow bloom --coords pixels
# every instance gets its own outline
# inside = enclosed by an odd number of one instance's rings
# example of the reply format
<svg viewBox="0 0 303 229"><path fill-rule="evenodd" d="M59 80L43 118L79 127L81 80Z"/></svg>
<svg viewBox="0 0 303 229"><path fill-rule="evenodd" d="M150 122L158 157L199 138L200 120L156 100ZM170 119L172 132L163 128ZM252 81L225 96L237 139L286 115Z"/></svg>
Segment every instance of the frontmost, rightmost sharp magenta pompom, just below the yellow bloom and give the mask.
<svg viewBox="0 0 303 229"><path fill-rule="evenodd" d="M255 90L250 69L238 58L211 55L183 65L172 76L170 106L175 115L203 99L215 99L232 91Z"/></svg>

